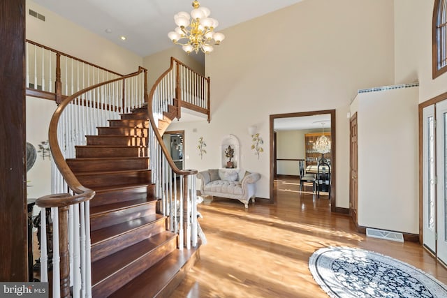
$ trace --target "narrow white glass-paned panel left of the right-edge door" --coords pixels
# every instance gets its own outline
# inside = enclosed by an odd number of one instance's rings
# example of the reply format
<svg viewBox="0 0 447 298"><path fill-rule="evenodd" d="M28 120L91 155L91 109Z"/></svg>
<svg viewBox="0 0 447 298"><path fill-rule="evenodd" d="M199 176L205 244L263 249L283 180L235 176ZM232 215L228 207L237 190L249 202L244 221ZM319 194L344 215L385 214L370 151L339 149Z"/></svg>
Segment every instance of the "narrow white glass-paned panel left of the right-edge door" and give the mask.
<svg viewBox="0 0 447 298"><path fill-rule="evenodd" d="M423 109L423 242L436 253L434 105Z"/></svg>

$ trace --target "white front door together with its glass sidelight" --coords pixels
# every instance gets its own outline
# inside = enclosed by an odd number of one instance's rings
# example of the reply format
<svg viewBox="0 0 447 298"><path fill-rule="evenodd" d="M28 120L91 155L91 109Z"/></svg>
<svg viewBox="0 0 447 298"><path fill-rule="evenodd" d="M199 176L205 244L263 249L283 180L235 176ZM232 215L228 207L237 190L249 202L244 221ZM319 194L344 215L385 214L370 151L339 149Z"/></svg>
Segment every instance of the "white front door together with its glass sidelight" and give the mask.
<svg viewBox="0 0 447 298"><path fill-rule="evenodd" d="M436 110L436 113L435 113ZM447 100L423 109L423 242L447 263Z"/></svg>

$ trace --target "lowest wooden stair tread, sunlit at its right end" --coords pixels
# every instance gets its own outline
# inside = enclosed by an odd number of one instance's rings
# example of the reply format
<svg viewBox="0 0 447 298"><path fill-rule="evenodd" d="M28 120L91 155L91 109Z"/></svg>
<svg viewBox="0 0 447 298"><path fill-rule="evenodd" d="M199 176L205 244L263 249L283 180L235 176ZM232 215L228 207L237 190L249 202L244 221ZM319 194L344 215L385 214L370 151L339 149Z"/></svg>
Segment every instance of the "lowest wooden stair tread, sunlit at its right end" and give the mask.
<svg viewBox="0 0 447 298"><path fill-rule="evenodd" d="M184 269L184 267L191 267L193 265L188 266L187 263L195 263L200 258L199 248L200 246L191 248L189 251L186 249L173 251L154 266L142 272L136 278L133 278L133 280L122 288L119 288L109 298L145 298L157 297L157 295L167 297L162 294L163 290L168 286L173 287L171 289L173 290L182 281L183 276L179 276L180 279L177 280L177 284L170 285L171 281L175 282L175 276L177 274L187 273L188 269ZM166 295L166 292L164 294Z"/></svg>

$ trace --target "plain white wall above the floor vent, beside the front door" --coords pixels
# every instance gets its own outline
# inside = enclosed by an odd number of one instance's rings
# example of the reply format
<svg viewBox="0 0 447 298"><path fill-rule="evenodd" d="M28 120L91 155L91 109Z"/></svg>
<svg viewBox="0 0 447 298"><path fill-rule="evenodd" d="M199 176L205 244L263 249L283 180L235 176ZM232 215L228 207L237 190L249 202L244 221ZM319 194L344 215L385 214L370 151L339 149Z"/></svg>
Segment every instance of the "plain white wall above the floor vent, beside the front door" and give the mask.
<svg viewBox="0 0 447 298"><path fill-rule="evenodd" d="M418 234L418 87L356 102L358 225Z"/></svg>

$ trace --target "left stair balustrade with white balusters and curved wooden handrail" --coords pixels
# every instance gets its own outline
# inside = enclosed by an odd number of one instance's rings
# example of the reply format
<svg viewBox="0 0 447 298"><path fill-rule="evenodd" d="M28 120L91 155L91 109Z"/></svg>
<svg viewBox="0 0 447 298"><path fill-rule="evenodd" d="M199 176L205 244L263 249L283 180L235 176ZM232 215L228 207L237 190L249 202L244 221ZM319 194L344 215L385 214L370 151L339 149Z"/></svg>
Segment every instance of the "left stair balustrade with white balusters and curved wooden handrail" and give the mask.
<svg viewBox="0 0 447 298"><path fill-rule="evenodd" d="M45 218L46 208L52 211L53 297L69 297L71 286L73 297L91 297L89 200L95 193L80 184L66 158L75 156L75 146L85 144L85 135L95 135L97 126L118 119L121 112L141 107L147 97L146 82L147 70L140 67L135 73L68 96L53 114L49 141L53 157L52 193L56 194L36 201L41 207L41 218ZM147 156L146 152L140 150L140 155ZM41 225L40 243L41 281L48 281L45 225Z"/></svg>

